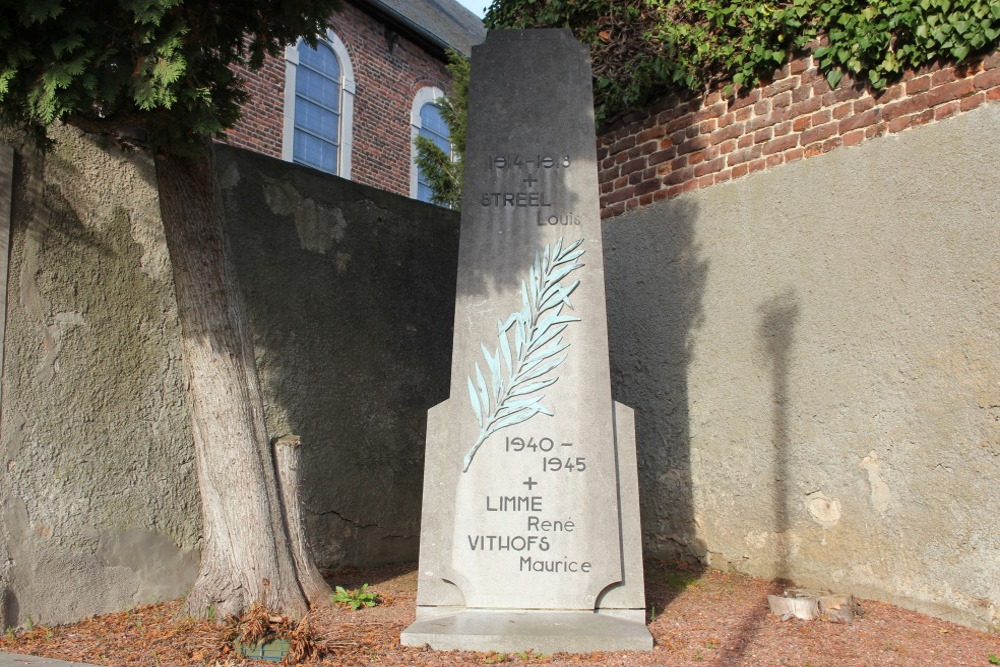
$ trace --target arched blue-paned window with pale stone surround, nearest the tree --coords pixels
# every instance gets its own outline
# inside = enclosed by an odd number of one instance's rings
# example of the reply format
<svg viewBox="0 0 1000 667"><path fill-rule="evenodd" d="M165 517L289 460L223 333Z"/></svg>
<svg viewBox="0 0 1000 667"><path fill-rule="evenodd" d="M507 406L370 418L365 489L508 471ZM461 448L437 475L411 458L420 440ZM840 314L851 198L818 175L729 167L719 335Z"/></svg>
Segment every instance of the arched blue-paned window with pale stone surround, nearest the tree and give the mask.
<svg viewBox="0 0 1000 667"><path fill-rule="evenodd" d="M350 178L353 110L351 59L333 31L285 50L284 159Z"/></svg>

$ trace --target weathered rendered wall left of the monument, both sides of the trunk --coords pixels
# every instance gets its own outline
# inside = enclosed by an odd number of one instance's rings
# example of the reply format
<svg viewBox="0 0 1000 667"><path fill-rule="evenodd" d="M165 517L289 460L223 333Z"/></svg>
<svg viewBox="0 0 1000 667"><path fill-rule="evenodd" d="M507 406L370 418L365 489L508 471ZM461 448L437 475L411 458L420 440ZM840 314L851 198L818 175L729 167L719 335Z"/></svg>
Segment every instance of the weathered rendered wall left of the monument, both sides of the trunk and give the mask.
<svg viewBox="0 0 1000 667"><path fill-rule="evenodd" d="M16 148L0 627L178 597L198 563L154 165L57 135L43 156L0 134ZM219 163L269 431L304 439L317 558L414 559L426 410L447 392L457 216L242 151L220 148Z"/></svg>

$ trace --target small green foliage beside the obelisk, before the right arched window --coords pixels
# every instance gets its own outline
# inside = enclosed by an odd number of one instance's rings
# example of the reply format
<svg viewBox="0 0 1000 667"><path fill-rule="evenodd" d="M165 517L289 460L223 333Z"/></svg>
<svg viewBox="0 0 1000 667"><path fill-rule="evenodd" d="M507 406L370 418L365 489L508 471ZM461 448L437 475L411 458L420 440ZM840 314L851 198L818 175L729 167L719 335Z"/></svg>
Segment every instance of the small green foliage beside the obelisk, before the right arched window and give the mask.
<svg viewBox="0 0 1000 667"><path fill-rule="evenodd" d="M452 93L438 101L441 118L448 126L451 155L427 137L413 140L417 166L431 188L431 201L441 206L462 207L462 156L469 109L469 60L455 50L448 51L448 73Z"/></svg>

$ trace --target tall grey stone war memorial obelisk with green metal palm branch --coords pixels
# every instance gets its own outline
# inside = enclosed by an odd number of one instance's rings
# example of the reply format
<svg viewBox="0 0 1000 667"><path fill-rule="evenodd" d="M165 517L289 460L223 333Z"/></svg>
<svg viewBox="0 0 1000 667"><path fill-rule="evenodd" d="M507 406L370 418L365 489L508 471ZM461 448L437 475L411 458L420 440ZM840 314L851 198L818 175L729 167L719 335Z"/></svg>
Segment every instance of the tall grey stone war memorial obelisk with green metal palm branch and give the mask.
<svg viewBox="0 0 1000 667"><path fill-rule="evenodd" d="M410 646L649 649L632 410L611 399L591 71L473 50L451 397L428 415Z"/></svg>

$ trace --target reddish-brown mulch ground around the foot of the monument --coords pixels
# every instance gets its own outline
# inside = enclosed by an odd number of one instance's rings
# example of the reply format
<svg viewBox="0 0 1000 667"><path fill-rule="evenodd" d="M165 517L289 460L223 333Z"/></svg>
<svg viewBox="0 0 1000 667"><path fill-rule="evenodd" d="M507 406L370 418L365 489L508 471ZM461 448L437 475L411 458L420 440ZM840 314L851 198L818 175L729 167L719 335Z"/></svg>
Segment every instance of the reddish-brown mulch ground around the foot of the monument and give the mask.
<svg viewBox="0 0 1000 667"><path fill-rule="evenodd" d="M331 605L311 613L325 652L309 665L971 665L1000 664L1000 635L972 630L881 602L860 600L850 625L781 621L768 612L774 582L715 570L649 561L646 601L655 639L651 652L578 655L441 652L399 645L413 621L416 566L342 569L331 584L371 584L372 608ZM231 630L175 618L180 601L95 616L80 623L36 626L0 636L0 652L26 653L112 667L264 665L238 659Z"/></svg>

